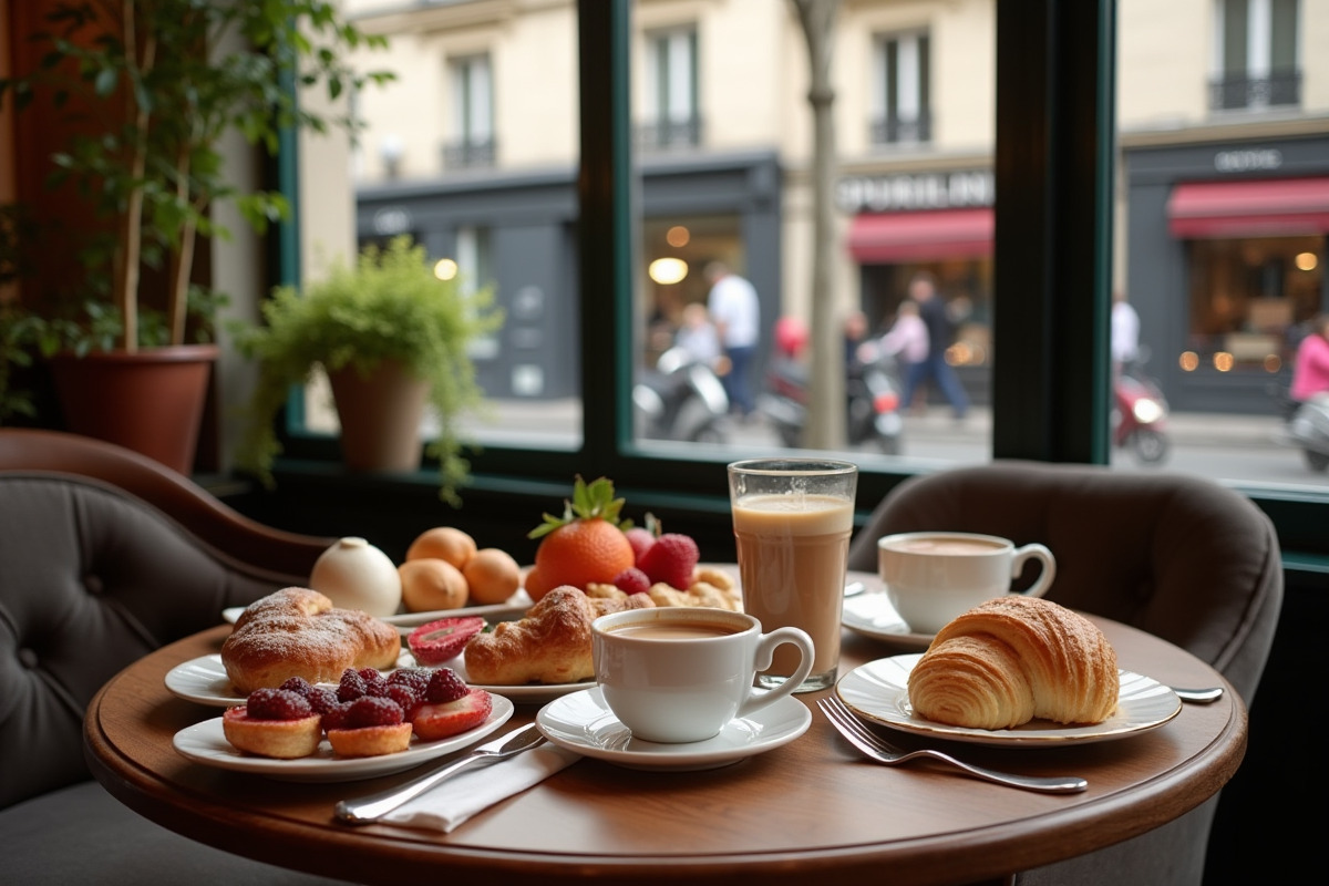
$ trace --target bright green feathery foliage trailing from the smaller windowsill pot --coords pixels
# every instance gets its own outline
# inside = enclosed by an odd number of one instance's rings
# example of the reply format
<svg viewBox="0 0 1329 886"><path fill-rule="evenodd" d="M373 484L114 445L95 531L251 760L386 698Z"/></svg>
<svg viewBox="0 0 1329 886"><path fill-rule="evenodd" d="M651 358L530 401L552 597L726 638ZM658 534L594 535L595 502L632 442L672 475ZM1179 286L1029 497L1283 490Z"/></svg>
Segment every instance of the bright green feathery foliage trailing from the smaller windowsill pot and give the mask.
<svg viewBox="0 0 1329 886"><path fill-rule="evenodd" d="M424 247L397 236L385 248L365 247L354 266L336 264L303 292L275 290L262 310L262 325L230 327L239 352L259 365L239 468L272 484L272 460L280 453L272 418L292 385L308 384L319 368L351 367L367 376L396 360L428 383L440 430L427 452L439 460L441 497L460 502L456 490L468 480L469 464L456 421L482 402L466 348L504 319L490 290L465 294L456 279L440 280Z"/></svg>

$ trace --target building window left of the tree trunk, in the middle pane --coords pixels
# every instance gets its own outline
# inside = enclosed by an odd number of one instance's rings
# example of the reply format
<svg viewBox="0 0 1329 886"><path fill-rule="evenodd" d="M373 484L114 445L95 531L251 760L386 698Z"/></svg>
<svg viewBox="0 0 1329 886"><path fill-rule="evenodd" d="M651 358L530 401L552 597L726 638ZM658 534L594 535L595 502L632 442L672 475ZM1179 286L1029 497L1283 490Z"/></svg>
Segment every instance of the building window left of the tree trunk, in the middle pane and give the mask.
<svg viewBox="0 0 1329 886"><path fill-rule="evenodd" d="M702 142L695 28L659 31L646 36L643 110L646 120L637 133L641 147L691 147Z"/></svg>

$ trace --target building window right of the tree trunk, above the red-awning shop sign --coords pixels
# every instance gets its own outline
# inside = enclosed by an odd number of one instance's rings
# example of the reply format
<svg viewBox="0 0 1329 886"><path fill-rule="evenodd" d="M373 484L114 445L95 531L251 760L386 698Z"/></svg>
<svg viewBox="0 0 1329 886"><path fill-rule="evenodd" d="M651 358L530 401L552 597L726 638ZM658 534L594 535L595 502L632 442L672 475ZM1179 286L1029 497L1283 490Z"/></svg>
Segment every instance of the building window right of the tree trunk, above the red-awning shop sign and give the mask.
<svg viewBox="0 0 1329 886"><path fill-rule="evenodd" d="M872 143L932 141L928 32L877 37Z"/></svg>

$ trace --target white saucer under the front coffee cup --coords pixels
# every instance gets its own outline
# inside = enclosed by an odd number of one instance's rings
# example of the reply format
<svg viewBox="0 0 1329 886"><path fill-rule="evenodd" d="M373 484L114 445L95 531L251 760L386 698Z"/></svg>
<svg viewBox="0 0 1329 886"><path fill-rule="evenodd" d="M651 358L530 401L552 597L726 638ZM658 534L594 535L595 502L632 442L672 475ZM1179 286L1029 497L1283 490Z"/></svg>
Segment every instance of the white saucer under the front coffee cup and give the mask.
<svg viewBox="0 0 1329 886"><path fill-rule="evenodd" d="M716 769L780 745L808 731L812 712L784 697L750 717L731 721L706 741L657 744L634 739L605 704L599 687L550 701L536 715L546 739L587 757L629 769Z"/></svg>

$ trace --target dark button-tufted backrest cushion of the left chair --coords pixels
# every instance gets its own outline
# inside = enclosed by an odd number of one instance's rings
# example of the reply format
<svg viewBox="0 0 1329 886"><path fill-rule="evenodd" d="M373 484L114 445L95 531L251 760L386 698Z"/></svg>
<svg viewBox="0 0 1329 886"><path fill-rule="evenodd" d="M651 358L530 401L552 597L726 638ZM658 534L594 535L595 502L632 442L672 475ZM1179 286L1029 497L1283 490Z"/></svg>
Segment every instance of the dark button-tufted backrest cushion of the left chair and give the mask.
<svg viewBox="0 0 1329 886"><path fill-rule="evenodd" d="M82 716L108 679L229 606L306 584L326 547L302 542L283 573L250 563L246 533L223 535L239 546L100 480L0 470L0 808L88 777Z"/></svg>

